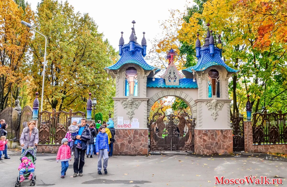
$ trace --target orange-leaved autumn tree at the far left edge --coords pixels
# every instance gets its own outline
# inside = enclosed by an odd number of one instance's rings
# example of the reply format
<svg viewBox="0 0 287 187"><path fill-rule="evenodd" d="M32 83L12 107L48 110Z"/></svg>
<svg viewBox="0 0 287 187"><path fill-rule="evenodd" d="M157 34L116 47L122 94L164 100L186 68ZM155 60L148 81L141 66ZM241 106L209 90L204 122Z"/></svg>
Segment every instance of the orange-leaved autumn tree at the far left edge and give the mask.
<svg viewBox="0 0 287 187"><path fill-rule="evenodd" d="M27 78L24 67L32 33L21 24L21 20L34 21L30 6L26 6L24 13L13 0L0 2L0 110L7 107L13 86L16 86L14 99L18 98L20 85Z"/></svg>

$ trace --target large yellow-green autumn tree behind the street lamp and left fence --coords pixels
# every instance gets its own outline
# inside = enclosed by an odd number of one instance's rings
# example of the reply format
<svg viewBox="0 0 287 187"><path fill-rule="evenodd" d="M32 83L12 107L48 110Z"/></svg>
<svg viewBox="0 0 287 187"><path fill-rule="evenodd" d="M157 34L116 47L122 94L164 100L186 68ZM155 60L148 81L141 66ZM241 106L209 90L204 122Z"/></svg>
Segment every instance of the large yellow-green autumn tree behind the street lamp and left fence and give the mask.
<svg viewBox="0 0 287 187"><path fill-rule="evenodd" d="M88 14L74 13L67 1L56 0L41 1L35 19L35 29L48 39L44 109L83 110L91 92L98 100L97 111L106 117L115 91L104 67L113 64L117 55L94 20ZM30 49L31 75L41 90L44 37L35 34Z"/></svg>

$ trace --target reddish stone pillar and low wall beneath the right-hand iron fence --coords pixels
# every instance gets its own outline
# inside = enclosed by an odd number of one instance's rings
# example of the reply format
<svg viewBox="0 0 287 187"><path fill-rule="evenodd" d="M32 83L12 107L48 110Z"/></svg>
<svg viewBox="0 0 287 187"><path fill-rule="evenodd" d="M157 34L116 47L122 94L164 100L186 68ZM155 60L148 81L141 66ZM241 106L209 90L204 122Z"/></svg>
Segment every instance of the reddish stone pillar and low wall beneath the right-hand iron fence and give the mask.
<svg viewBox="0 0 287 187"><path fill-rule="evenodd" d="M245 152L287 154L287 144L253 145L252 121L244 122Z"/></svg>

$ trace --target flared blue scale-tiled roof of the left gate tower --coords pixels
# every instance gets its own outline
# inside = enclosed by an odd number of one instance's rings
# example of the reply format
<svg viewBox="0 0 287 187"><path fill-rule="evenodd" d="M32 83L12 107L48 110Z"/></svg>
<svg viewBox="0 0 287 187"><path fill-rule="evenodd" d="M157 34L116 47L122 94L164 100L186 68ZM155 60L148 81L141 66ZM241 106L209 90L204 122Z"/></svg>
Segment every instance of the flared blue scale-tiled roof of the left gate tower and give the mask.
<svg viewBox="0 0 287 187"><path fill-rule="evenodd" d="M144 57L141 54L143 47L139 44L135 44L135 52L129 52L129 44L123 45L123 54L117 63L107 67L108 69L119 69L122 65L127 63L137 64L144 70L153 70L156 67L153 67L146 63Z"/></svg>

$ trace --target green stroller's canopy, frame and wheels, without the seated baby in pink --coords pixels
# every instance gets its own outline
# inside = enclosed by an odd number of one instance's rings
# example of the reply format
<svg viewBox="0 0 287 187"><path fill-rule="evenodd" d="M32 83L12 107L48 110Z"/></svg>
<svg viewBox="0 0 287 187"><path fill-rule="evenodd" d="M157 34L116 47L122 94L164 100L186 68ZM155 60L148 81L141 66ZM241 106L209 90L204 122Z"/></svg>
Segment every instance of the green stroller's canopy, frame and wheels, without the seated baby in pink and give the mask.
<svg viewBox="0 0 287 187"><path fill-rule="evenodd" d="M35 149L37 150L37 147L36 147ZM36 151L35 149L33 149L33 148L28 148L28 149L26 149L26 150L22 153L22 155L21 155L21 157L20 157L20 160L22 159L22 157L26 156L26 157L28 157L28 159L30 159L31 162L36 166L36 152L37 152L37 151ZM21 162L22 162L22 161L20 161L20 163L21 163ZM30 175L30 172L24 172L24 178L25 178L25 180L28 180L29 175ZM15 187L16 187L17 185L21 186L21 182L19 182L19 181L20 181L20 171L19 171L19 173L18 173L17 180L15 181ZM33 186L35 186L35 184L36 184L36 175L35 175L35 172L34 172L33 178L30 180L30 186L32 186L32 184L33 184Z"/></svg>

